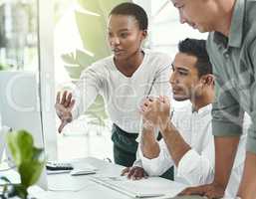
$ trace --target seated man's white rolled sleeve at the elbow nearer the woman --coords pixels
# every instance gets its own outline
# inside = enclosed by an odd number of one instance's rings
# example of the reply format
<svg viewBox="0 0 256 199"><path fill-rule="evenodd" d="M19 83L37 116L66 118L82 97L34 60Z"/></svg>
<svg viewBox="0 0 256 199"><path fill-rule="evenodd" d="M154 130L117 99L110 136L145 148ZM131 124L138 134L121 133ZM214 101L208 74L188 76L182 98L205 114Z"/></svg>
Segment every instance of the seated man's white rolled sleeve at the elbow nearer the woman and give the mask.
<svg viewBox="0 0 256 199"><path fill-rule="evenodd" d="M148 159L144 157L141 150L139 150L139 156L142 162L142 167L149 176L159 176L163 174L168 168L174 165L168 151L163 146L164 142L159 141L160 152L155 158ZM140 148L140 147L139 147Z"/></svg>

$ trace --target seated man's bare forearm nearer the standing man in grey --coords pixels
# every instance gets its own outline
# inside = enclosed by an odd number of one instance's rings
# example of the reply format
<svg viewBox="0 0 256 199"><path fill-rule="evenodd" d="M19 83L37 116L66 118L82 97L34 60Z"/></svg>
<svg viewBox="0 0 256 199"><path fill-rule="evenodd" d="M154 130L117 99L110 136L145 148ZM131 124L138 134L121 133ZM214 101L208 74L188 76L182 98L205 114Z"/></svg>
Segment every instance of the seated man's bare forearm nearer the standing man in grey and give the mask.
<svg viewBox="0 0 256 199"><path fill-rule="evenodd" d="M185 142L171 121L160 127L160 131L175 165L178 166L179 160L191 147Z"/></svg>

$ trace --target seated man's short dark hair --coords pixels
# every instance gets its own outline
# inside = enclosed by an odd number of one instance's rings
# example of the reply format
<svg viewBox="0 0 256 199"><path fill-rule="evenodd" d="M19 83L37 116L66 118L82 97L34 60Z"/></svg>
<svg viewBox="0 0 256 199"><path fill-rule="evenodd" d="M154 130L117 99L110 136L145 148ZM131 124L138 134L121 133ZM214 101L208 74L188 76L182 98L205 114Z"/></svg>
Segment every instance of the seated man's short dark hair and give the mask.
<svg viewBox="0 0 256 199"><path fill-rule="evenodd" d="M206 74L212 74L212 66L206 50L205 40L185 39L178 43L178 51L197 58L195 64L199 78Z"/></svg>

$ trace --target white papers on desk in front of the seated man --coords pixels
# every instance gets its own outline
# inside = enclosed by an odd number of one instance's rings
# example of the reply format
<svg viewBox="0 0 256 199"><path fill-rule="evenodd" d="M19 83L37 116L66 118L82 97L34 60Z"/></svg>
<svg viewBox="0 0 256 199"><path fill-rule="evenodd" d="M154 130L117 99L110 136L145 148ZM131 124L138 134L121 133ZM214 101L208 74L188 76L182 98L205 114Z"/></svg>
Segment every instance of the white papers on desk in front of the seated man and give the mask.
<svg viewBox="0 0 256 199"><path fill-rule="evenodd" d="M114 189L133 198L171 198L187 186L160 177L149 177L141 180L129 180L127 176L92 176L92 181Z"/></svg>

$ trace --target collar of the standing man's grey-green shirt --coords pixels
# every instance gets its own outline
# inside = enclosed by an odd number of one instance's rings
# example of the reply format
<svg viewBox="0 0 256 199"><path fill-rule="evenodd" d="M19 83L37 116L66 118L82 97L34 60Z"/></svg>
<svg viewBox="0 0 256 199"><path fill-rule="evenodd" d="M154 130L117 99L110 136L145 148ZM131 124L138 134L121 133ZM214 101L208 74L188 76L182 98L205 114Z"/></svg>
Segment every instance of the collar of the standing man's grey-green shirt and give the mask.
<svg viewBox="0 0 256 199"><path fill-rule="evenodd" d="M245 0L236 0L228 40L221 33L214 32L214 42L217 44L222 44L224 47L241 47L243 39L244 17Z"/></svg>

